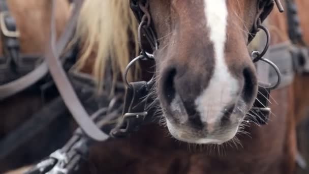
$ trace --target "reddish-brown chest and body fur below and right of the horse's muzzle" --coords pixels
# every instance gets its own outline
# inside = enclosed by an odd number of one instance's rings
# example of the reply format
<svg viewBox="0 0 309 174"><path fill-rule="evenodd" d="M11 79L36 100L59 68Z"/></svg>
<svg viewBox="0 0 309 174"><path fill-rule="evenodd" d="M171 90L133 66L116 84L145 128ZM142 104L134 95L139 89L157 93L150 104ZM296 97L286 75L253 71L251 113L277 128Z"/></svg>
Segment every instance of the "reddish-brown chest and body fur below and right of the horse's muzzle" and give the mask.
<svg viewBox="0 0 309 174"><path fill-rule="evenodd" d="M236 1L235 1L236 2ZM238 1L241 2L241 1ZM309 3L297 0L301 26ZM167 5L168 6L168 5ZM164 6L164 8L167 8ZM288 40L284 14L273 10L268 17L271 44ZM160 22L159 22L160 23ZM162 25L159 25L162 27ZM168 30L169 28L160 28ZM308 28L309 29L309 28ZM158 28L157 28L158 30ZM309 33L304 39L309 43ZM164 36L168 37L168 36ZM194 146L169 137L157 124L144 126L126 139L111 139L91 149L81 173L293 173L296 156L296 125L308 112L307 76L296 75L292 85L273 91L272 115L265 126L250 124L250 133L238 135L241 146Z"/></svg>

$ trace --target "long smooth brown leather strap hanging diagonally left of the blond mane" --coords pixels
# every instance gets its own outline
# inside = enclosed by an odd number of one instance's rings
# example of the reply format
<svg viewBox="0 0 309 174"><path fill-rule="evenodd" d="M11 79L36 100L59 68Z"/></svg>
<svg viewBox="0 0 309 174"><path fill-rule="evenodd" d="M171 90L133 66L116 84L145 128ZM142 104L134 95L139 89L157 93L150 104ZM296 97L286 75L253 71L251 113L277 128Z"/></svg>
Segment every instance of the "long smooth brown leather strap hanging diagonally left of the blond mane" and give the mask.
<svg viewBox="0 0 309 174"><path fill-rule="evenodd" d="M55 84L59 90L61 97L63 97L66 106L72 113L75 121L82 128L85 134L95 140L103 141L109 136L102 132L96 124L90 119L88 113L80 103L76 93L74 92L73 86L70 83L66 72L62 68L61 62L59 61L59 55L63 52L66 45L72 38L75 26L78 19L78 14L83 4L83 0L75 0L73 14L69 23L66 26L65 32L61 35L60 39L56 44L56 29L55 29L55 6L56 1L52 1L52 17L51 17L51 33L50 43L46 50L46 62L48 64L50 73L55 81Z"/></svg>

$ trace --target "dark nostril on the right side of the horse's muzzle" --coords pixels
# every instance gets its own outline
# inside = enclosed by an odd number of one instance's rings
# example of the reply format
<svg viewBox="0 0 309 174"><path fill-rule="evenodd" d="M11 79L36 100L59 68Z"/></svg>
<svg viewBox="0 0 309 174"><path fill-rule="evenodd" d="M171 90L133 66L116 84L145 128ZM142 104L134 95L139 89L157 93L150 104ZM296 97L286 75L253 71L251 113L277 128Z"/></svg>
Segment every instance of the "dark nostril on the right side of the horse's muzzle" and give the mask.
<svg viewBox="0 0 309 174"><path fill-rule="evenodd" d="M244 77L242 97L245 102L250 102L255 94L257 78L253 70L248 67L244 68L242 74Z"/></svg>

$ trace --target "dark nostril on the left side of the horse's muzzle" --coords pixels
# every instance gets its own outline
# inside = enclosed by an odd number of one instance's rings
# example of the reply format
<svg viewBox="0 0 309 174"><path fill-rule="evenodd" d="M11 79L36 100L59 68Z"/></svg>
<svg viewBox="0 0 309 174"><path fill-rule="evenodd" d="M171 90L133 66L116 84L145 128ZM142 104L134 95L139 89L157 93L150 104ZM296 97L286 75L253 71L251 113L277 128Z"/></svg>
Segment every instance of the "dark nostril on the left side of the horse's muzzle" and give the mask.
<svg viewBox="0 0 309 174"><path fill-rule="evenodd" d="M170 104L175 98L175 85L174 85L174 77L176 75L175 68L169 68L166 73L163 75L163 95L166 98L167 102Z"/></svg>

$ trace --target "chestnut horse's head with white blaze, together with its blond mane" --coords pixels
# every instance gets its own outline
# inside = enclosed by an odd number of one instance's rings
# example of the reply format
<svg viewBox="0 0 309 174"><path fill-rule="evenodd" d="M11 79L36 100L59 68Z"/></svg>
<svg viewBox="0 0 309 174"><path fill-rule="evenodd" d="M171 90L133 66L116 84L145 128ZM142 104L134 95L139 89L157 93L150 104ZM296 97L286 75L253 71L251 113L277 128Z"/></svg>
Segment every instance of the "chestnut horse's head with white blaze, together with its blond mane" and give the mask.
<svg viewBox="0 0 309 174"><path fill-rule="evenodd" d="M131 41L141 35L130 5L146 5L148 25L158 38L153 51L155 91L169 132L193 143L233 138L258 91L247 45L273 1L86 1L77 35L86 38L88 48L82 57L99 48L94 73L100 81L109 61L115 72L123 73L128 55L137 52Z"/></svg>

